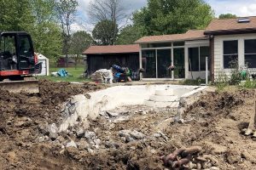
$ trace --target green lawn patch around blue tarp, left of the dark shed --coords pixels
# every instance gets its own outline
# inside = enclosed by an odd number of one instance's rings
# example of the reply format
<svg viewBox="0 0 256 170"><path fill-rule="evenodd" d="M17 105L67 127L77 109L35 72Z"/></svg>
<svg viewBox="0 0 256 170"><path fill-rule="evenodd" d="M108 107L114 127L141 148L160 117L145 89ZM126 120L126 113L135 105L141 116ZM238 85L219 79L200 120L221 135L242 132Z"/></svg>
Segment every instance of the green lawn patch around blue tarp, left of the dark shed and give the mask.
<svg viewBox="0 0 256 170"><path fill-rule="evenodd" d="M60 69L61 68L51 67L51 68L49 68L49 74L51 72L57 72ZM77 68L69 67L69 68L63 68L63 69L65 69L69 74L71 74L72 77L52 77L52 76L48 76L48 77L38 77L38 79L47 79L47 80L50 80L52 82L57 82L57 81L62 81L62 82L88 82L88 81L90 81L89 79L80 78L80 75L83 74L83 72L84 72L84 65L79 65Z"/></svg>

